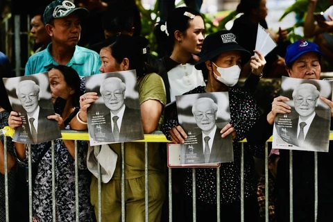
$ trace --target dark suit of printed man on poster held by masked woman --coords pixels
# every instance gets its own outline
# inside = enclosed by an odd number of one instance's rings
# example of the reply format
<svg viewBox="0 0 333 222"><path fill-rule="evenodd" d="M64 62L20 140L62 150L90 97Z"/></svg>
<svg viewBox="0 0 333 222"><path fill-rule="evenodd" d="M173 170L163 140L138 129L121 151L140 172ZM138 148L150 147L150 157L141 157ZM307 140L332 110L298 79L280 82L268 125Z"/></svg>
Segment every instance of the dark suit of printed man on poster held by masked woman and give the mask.
<svg viewBox="0 0 333 222"><path fill-rule="evenodd" d="M231 135L222 138L221 129L216 128L212 149L210 152L210 163L213 162L232 162L234 153L232 149ZM203 133L200 130L196 136L196 142L183 145L185 148L185 164L204 164L205 154L203 147Z"/></svg>

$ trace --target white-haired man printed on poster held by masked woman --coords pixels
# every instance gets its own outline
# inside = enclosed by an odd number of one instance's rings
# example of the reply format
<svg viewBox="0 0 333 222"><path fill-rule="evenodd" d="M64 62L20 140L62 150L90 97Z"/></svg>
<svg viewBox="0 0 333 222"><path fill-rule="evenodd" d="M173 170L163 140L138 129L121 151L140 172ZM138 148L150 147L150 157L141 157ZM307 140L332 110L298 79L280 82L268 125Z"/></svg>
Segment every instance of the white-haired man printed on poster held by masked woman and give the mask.
<svg viewBox="0 0 333 222"><path fill-rule="evenodd" d="M217 110L218 105L208 97L197 99L192 106L200 133L196 135L198 144L184 145L185 164L233 161L232 139L222 138L221 128L216 126Z"/></svg>

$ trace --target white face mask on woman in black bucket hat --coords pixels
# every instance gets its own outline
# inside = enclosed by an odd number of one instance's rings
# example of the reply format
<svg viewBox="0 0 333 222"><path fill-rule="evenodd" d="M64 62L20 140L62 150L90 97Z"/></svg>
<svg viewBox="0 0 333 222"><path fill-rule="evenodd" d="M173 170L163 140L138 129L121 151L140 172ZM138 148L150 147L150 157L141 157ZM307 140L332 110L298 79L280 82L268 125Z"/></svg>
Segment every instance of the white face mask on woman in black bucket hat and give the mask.
<svg viewBox="0 0 333 222"><path fill-rule="evenodd" d="M216 66L216 71L219 71L219 74L221 76L217 76L215 72L213 71L214 75L216 76L216 79L219 80L219 82L232 87L237 84L239 75L241 74L241 69L238 65L234 65L232 67L228 68L222 68L215 65L214 62L212 62L214 66Z"/></svg>

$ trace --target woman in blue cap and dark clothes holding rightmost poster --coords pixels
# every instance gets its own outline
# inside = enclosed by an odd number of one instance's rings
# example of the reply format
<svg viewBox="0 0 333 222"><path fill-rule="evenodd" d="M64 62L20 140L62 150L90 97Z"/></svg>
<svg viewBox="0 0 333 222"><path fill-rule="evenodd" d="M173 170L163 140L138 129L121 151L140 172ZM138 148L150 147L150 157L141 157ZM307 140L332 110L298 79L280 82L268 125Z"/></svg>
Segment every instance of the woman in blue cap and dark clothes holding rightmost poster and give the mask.
<svg viewBox="0 0 333 222"><path fill-rule="evenodd" d="M294 42L288 46L285 56L286 69L289 77L320 80L320 60L322 55L323 53L319 51L318 45L314 42L307 40ZM330 106L332 122L333 102L326 99L324 96L319 96L319 99ZM278 96L273 100L271 111L267 115L264 115L262 121L259 121L258 124L251 129L247 137L248 142L266 141L266 139L271 136L276 114L288 114L293 112L291 106L286 103L289 100L287 96ZM306 103L307 101L302 102ZM311 103L311 101L308 102ZM314 121L312 121L311 125L313 123ZM326 120L325 124L327 123L330 123L329 119ZM325 126L318 126L316 130L321 131L323 127ZM309 128L311 128L311 126ZM311 133L308 131L305 140L309 134ZM296 135L294 137L296 137ZM318 141L318 144L314 146L316 150L321 150L321 142ZM332 146L333 144L330 142L328 153L280 149L280 160L278 162L274 188L277 194L275 216L278 222L290 221L291 218L293 221L321 222L332 220ZM290 180L291 176L292 180ZM318 178L317 184L315 176ZM293 185L292 190L290 186L291 181ZM315 189L316 187L318 190ZM317 202L315 201L316 194L318 194ZM293 204L292 214L290 203ZM315 206L315 203L318 205ZM315 207L318 209L317 214L315 214Z"/></svg>

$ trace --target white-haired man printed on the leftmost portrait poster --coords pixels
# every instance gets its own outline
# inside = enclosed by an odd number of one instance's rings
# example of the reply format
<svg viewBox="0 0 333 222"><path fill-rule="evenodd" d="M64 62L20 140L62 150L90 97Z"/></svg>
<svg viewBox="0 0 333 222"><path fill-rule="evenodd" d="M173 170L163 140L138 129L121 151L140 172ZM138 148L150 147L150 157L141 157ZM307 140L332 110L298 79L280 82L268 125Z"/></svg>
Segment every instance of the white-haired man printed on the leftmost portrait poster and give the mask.
<svg viewBox="0 0 333 222"><path fill-rule="evenodd" d="M37 144L61 137L58 122L47 119L54 110L44 109L39 104L39 85L33 80L22 80L16 87L16 94L26 113L22 116L22 127L17 128L19 133L15 132L14 141Z"/></svg>

